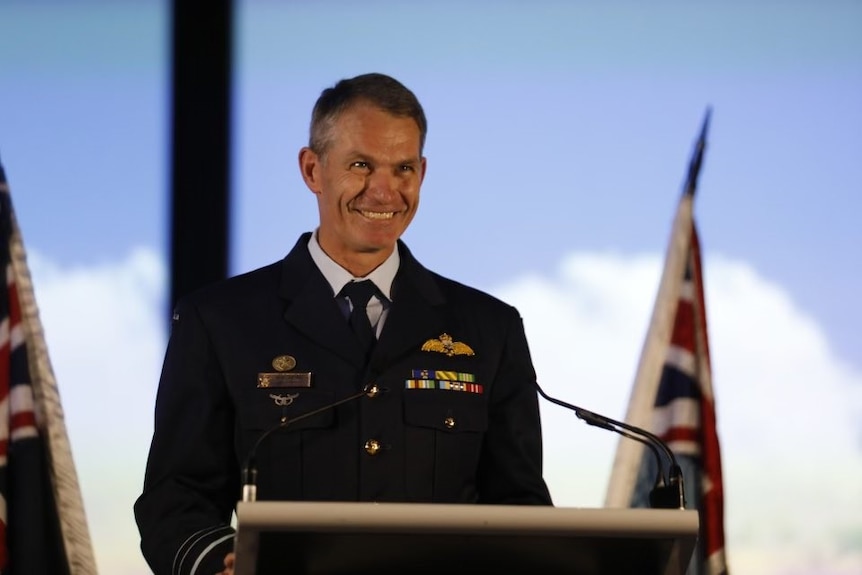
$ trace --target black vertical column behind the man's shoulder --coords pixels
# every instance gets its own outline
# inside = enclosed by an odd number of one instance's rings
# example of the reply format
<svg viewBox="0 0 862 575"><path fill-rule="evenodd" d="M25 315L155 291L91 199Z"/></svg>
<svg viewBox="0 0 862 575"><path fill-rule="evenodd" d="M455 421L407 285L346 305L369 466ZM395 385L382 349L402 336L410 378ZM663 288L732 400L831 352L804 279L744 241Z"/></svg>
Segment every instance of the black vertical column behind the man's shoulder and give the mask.
<svg viewBox="0 0 862 575"><path fill-rule="evenodd" d="M229 269L232 0L172 0L170 301Z"/></svg>

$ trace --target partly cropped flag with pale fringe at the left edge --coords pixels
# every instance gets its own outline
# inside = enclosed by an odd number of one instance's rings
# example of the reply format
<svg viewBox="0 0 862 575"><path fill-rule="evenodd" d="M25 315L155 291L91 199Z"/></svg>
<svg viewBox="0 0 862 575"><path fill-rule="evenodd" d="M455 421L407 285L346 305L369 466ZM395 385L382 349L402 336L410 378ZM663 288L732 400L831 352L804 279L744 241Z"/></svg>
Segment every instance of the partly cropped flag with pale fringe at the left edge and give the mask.
<svg viewBox="0 0 862 575"><path fill-rule="evenodd" d="M0 165L0 574L96 573L57 384Z"/></svg>

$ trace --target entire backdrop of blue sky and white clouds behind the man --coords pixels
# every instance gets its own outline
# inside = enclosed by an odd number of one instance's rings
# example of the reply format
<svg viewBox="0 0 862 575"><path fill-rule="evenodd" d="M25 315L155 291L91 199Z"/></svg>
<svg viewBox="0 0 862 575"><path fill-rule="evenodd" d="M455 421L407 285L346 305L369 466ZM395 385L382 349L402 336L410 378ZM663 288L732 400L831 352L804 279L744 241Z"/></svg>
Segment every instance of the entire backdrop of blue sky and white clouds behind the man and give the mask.
<svg viewBox="0 0 862 575"><path fill-rule="evenodd" d="M164 2L0 6L0 160L100 569L145 573L140 489L167 325ZM540 382L621 417L703 114L695 213L736 572L862 569L862 4L238 3L232 269L317 220L311 106L390 73L429 117L405 239L504 297ZM206 190L201 190L205 199ZM616 439L543 408L558 504Z"/></svg>

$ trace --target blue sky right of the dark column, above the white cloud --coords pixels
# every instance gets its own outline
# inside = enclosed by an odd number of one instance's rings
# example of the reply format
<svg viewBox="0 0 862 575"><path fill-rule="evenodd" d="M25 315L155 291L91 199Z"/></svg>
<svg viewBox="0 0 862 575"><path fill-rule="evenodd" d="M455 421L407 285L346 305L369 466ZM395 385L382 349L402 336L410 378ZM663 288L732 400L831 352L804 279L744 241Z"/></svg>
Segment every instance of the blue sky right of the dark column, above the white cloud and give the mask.
<svg viewBox="0 0 862 575"><path fill-rule="evenodd" d="M486 285L572 248L663 249L712 106L705 249L788 286L847 357L862 348L858 3L300 4L241 15L237 269L313 219L294 150L340 77L383 71L421 95L429 173L407 238L428 261L423 242L481 226L429 263Z"/></svg>

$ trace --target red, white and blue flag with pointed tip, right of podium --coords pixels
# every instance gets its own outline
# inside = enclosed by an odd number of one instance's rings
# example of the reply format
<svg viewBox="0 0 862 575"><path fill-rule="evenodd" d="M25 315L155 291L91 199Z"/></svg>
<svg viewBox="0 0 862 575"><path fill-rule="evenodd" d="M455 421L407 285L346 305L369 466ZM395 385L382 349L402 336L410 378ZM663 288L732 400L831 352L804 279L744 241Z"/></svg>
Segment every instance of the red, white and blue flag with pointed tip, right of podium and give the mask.
<svg viewBox="0 0 862 575"><path fill-rule="evenodd" d="M690 575L728 572L724 545L724 489L703 288L700 244L693 215L703 160L707 111L684 193L677 207L664 270L641 351L626 422L651 431L674 452L683 472L687 508L696 508L700 533ZM643 444L617 446L605 504L645 507L656 462Z"/></svg>

